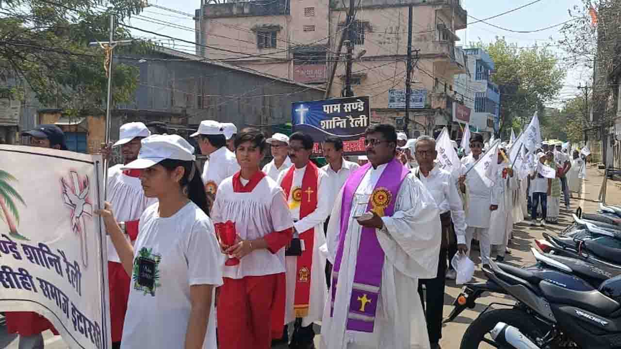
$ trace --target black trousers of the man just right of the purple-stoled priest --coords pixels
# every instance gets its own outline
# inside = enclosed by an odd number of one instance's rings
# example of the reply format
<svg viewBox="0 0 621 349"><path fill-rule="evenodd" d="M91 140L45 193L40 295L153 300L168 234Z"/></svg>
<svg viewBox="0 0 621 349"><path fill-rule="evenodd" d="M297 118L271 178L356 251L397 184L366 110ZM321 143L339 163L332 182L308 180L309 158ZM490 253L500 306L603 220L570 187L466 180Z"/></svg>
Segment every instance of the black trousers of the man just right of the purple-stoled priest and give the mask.
<svg viewBox="0 0 621 349"><path fill-rule="evenodd" d="M430 343L440 342L442 338L442 310L444 307L444 286L446 273L446 248L440 249L440 260L438 261L438 275L433 279L419 279L420 302L425 310L425 320L427 320L427 333ZM422 285L425 285L425 297ZM427 304L425 304L425 298Z"/></svg>

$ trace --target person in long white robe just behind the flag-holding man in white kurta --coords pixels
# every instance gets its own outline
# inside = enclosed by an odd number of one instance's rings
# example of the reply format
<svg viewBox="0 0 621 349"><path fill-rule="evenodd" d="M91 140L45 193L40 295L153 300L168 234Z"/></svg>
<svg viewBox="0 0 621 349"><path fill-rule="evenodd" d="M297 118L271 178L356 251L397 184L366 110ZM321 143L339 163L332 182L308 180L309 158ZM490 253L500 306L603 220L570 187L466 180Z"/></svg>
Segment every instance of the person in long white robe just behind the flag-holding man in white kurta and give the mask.
<svg viewBox="0 0 621 349"><path fill-rule="evenodd" d="M507 250L507 242L513 230L513 195L517 189L517 181L514 178L514 171L510 168L511 164L504 155L504 148L499 149L496 181L492 186L492 191L496 192L498 198L498 209L492 211L489 222L489 235L492 245L497 245L498 255L496 261L504 261Z"/></svg>

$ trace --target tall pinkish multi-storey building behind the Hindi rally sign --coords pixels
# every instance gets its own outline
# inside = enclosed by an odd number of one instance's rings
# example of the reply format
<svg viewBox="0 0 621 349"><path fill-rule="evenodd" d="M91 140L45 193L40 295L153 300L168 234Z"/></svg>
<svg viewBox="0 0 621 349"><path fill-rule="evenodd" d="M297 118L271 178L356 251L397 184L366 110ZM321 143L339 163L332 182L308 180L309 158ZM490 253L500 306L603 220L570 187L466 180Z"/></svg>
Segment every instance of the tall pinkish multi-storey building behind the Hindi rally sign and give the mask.
<svg viewBox="0 0 621 349"><path fill-rule="evenodd" d="M459 0L358 0L351 85L371 97L376 122L399 123L404 116L408 7L413 9L412 47L419 50L412 76L410 130L430 133L451 122L453 77L467 73L465 55L455 47L465 29ZM204 57L226 60L301 83L326 85L335 52L347 28L348 4L330 0L256 0L205 4L196 12L197 47ZM345 86L345 52L336 65L329 96ZM232 51L232 52L227 52ZM237 52L237 53L233 53ZM243 52L243 53L242 53Z"/></svg>

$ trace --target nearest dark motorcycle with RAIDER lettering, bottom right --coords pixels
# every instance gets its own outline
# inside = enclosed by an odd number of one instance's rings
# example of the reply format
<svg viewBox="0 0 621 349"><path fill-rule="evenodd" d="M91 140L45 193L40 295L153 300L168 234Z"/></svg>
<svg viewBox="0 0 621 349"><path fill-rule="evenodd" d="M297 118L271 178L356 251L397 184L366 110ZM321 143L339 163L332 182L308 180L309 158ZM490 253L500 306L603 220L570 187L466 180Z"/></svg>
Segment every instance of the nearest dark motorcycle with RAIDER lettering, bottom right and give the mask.
<svg viewBox="0 0 621 349"><path fill-rule="evenodd" d="M561 261L534 248L532 253L537 265L516 268L490 261L489 268L483 268L485 283L466 284L456 299L458 305L474 308L484 292L506 294L517 302L486 307L469 325L460 348L478 348L482 342L497 347L501 343L492 339L494 333L492 338L486 336L500 322L514 327L535 345L515 348L621 347L621 275L594 288ZM491 309L492 305L505 308ZM456 314L451 313L447 320L455 319L459 312L453 309Z"/></svg>

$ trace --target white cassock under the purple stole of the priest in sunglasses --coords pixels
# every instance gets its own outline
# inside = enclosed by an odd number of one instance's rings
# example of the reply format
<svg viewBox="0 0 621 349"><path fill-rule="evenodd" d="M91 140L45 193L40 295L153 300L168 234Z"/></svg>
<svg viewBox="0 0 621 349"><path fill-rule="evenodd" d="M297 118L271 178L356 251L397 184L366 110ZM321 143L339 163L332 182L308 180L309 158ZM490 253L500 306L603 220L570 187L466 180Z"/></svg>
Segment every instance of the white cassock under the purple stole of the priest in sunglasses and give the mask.
<svg viewBox="0 0 621 349"><path fill-rule="evenodd" d="M394 214L383 217L384 229L376 230L385 260L374 331L346 330L362 230L353 217L366 211L369 197L384 168L386 165L369 169L351 204L333 317L330 317L330 301L326 302L324 309L324 349L429 348L425 314L416 289L419 278L435 278L437 274L441 225L433 197L412 173L407 175L397 193ZM342 195L343 190L335 202L342 202ZM342 204L334 206L328 225L327 250L332 263L337 254L341 209Z"/></svg>

